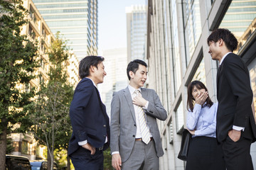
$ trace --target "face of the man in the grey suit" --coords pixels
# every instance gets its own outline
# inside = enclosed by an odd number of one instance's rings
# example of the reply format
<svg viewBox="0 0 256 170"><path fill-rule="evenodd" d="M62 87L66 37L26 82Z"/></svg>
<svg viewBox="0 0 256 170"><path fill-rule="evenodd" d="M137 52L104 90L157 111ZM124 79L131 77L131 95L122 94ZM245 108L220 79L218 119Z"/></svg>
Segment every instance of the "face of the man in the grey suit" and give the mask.
<svg viewBox="0 0 256 170"><path fill-rule="evenodd" d="M130 77L130 84L134 86L134 88L139 89L139 87L144 86L144 83L147 79L146 67L142 64L139 64L139 69L137 69L137 72L132 72Z"/></svg>

